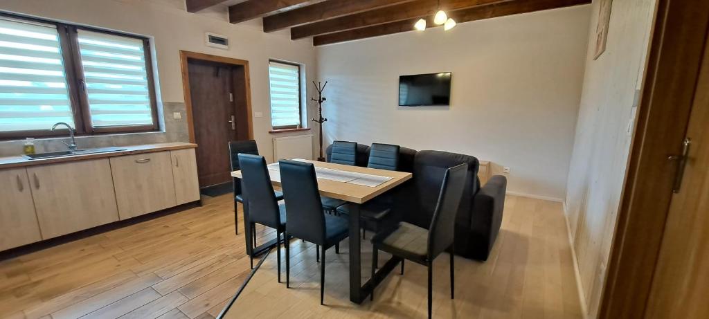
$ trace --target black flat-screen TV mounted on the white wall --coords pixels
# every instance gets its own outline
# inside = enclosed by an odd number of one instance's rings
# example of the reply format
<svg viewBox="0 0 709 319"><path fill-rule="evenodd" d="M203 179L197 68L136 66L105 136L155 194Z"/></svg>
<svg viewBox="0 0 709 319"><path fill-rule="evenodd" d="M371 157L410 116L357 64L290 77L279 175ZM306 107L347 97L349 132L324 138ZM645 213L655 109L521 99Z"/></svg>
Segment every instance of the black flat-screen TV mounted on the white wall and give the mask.
<svg viewBox="0 0 709 319"><path fill-rule="evenodd" d="M399 106L450 105L451 72L402 75Z"/></svg>

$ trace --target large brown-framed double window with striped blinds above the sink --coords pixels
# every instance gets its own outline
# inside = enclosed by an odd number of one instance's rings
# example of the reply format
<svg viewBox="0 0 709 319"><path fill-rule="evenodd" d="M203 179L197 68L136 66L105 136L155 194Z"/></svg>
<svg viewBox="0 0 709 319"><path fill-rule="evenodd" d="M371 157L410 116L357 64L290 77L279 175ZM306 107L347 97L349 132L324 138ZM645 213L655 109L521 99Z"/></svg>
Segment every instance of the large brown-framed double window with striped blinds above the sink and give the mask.
<svg viewBox="0 0 709 319"><path fill-rule="evenodd" d="M0 138L157 130L146 38L0 13Z"/></svg>

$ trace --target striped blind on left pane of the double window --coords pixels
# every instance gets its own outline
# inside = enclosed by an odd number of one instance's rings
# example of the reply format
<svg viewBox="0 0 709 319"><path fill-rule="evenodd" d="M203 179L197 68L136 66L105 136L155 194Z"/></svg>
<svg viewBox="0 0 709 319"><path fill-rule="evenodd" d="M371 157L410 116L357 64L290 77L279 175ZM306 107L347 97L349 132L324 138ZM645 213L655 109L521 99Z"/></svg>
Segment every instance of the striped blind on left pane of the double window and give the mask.
<svg viewBox="0 0 709 319"><path fill-rule="evenodd" d="M74 126L55 26L0 18L0 132Z"/></svg>

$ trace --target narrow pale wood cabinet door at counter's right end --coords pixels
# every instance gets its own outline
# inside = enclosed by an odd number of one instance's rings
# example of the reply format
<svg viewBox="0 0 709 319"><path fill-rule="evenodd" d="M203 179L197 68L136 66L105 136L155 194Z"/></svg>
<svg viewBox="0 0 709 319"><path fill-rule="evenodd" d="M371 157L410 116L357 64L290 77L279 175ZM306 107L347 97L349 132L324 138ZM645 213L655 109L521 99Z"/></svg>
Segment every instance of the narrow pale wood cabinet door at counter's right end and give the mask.
<svg viewBox="0 0 709 319"><path fill-rule="evenodd" d="M177 205L199 201L199 179L194 148L170 151Z"/></svg>

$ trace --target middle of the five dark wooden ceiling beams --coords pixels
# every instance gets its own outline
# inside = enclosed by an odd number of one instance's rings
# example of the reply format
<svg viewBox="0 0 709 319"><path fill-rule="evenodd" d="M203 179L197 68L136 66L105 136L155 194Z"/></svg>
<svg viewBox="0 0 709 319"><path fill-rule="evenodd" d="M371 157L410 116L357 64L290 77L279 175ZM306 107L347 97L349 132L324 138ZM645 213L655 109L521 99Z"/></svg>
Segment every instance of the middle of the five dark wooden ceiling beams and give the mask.
<svg viewBox="0 0 709 319"><path fill-rule="evenodd" d="M264 18L264 32L273 32L305 23L338 18L354 13L381 9L414 0L330 0Z"/></svg>

